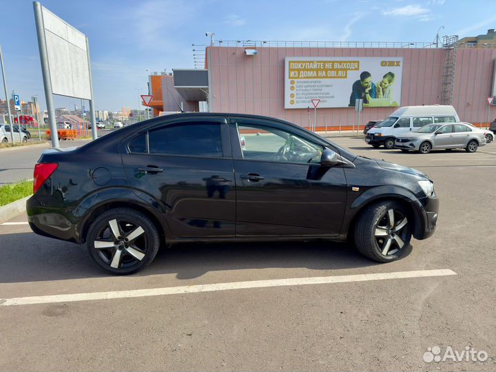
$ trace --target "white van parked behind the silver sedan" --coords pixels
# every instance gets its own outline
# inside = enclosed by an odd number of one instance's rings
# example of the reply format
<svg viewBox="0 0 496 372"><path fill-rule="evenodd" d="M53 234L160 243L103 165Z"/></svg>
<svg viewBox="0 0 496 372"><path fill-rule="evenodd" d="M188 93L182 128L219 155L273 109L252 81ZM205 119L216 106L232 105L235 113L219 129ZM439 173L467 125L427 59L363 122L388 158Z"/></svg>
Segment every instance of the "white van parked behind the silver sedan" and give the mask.
<svg viewBox="0 0 496 372"><path fill-rule="evenodd" d="M459 123L455 107L448 105L400 107L382 123L369 130L365 142L373 147L384 145L386 149L393 149L397 136L417 132L424 125L432 123Z"/></svg>

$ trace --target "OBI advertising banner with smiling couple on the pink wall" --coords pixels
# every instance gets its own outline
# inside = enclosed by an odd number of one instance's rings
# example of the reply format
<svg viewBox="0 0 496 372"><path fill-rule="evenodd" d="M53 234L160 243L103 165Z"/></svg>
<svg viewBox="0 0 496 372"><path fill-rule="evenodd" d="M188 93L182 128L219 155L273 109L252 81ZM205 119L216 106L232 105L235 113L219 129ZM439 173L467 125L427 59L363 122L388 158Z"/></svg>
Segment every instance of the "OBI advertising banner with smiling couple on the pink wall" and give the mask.
<svg viewBox="0 0 496 372"><path fill-rule="evenodd" d="M285 109L401 105L403 57L286 57Z"/></svg>

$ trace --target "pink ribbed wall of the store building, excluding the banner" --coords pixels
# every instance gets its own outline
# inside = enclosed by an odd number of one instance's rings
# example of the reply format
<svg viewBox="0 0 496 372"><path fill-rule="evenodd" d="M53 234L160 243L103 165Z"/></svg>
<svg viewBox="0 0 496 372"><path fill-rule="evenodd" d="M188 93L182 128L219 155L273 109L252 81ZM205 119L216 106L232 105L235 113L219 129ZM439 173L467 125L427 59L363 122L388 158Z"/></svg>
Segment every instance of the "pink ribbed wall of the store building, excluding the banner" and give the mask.
<svg viewBox="0 0 496 372"><path fill-rule="evenodd" d="M273 116L307 127L313 109L285 109L285 57L403 57L401 105L442 103L448 50L442 48L245 48L207 47L209 111ZM488 106L492 95L496 49L459 49L455 63L452 105L462 121L486 123L496 117ZM347 93L349 94L349 92ZM165 99L164 99L165 101ZM164 102L165 104L165 102ZM396 107L365 107L360 125L389 116ZM354 107L318 108L319 127L357 123Z"/></svg>

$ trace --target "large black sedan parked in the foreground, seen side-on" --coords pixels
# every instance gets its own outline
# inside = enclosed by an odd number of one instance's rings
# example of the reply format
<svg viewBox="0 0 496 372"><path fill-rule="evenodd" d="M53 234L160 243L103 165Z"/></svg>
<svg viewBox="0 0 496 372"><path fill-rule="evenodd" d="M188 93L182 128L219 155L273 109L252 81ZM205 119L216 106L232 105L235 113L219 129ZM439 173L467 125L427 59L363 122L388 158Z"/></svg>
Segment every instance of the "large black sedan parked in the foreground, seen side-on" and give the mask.
<svg viewBox="0 0 496 372"><path fill-rule="evenodd" d="M32 230L85 243L115 274L179 242L349 240L390 262L412 236L434 233L439 203L415 169L356 156L276 118L203 112L47 149L33 192Z"/></svg>

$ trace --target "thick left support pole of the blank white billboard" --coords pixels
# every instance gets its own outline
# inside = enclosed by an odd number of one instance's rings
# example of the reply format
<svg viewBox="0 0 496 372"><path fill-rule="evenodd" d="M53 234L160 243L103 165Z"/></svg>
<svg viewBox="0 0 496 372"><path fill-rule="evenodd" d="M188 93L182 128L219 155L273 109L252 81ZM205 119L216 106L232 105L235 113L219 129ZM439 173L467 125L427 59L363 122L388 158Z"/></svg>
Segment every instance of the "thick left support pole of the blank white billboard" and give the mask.
<svg viewBox="0 0 496 372"><path fill-rule="evenodd" d="M34 21L37 26L38 47L40 52L41 73L43 75L43 86L45 87L45 99L48 110L48 121L50 122L50 132L52 133L52 147L59 148L59 134L56 128L56 117L52 96L52 82L50 81L50 69L48 68L48 55L45 43L45 28L43 26L43 17L41 16L41 4L38 1L33 2ZM38 124L39 125L39 124Z"/></svg>

